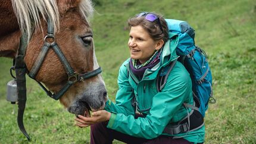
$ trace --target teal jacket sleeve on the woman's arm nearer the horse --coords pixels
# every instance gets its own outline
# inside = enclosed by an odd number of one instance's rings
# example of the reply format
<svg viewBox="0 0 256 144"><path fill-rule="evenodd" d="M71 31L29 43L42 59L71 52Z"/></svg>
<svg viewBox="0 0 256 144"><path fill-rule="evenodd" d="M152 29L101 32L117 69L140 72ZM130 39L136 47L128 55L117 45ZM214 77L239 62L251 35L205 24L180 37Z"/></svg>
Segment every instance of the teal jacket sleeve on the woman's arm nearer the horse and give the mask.
<svg viewBox="0 0 256 144"><path fill-rule="evenodd" d="M118 91L115 96L115 104L109 99L106 102L105 110L114 114L135 115L135 108L132 106L133 89L130 86L127 68L124 64L120 67L118 74Z"/></svg>

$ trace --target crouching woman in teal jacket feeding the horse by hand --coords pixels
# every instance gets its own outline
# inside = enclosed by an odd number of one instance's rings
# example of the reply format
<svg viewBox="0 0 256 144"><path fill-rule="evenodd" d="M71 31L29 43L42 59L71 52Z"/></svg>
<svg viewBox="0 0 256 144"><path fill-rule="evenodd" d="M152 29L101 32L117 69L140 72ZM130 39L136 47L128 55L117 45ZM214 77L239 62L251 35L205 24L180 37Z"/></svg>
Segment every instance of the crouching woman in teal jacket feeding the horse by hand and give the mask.
<svg viewBox="0 0 256 144"><path fill-rule="evenodd" d="M130 58L119 70L116 104L108 100L105 110L92 117L79 115L77 126L91 127L91 143L203 143L204 126L186 133L166 130L191 111L183 103L193 104L191 78L176 61L178 37L152 12L142 12L128 24ZM157 76L169 65L173 68L158 92Z"/></svg>

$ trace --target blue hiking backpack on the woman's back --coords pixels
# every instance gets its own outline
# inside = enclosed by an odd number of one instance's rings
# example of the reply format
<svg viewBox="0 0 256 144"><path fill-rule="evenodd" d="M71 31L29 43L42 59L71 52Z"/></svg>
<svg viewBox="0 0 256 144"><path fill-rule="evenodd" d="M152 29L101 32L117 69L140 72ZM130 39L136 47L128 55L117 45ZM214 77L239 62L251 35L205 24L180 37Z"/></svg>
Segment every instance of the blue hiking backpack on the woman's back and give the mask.
<svg viewBox="0 0 256 144"><path fill-rule="evenodd" d="M169 32L179 35L179 42L176 48L176 54L180 56L178 61L185 66L191 76L193 99L202 117L204 117L205 111L208 109L208 102L216 102L213 98L212 76L207 61L207 55L201 48L195 45L195 30L193 30L186 21L173 19L166 19L166 21ZM157 81L160 79L162 81L168 77L172 67L173 66L170 66L164 76L158 74ZM161 92L165 82L157 83L157 89Z"/></svg>

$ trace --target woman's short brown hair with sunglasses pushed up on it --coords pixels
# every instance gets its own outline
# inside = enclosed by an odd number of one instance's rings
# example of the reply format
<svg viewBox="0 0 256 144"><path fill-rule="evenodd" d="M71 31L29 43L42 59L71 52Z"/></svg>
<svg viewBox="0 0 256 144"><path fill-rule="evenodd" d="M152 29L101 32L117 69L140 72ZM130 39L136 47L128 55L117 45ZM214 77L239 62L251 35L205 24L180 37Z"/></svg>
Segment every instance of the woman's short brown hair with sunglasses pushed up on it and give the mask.
<svg viewBox="0 0 256 144"><path fill-rule="evenodd" d="M164 20L162 15L155 14L154 12L148 12L148 13L156 15L160 19L161 26L158 20L151 22L149 20L146 20L145 16L138 17L136 15L135 17L129 18L128 20L129 27L142 26L149 33L152 39L154 40L163 39L164 43L166 43L168 40L168 27L167 27L166 20Z"/></svg>

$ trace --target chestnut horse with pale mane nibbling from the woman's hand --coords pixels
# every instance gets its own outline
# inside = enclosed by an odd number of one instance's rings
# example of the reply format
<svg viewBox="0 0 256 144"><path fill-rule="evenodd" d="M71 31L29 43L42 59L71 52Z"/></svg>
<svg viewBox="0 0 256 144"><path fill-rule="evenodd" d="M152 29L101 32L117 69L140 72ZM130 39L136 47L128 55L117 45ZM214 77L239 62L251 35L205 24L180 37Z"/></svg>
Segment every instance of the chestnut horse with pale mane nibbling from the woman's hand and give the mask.
<svg viewBox="0 0 256 144"><path fill-rule="evenodd" d="M13 58L15 67L23 61L25 73L49 96L71 114L87 117L108 99L95 56L92 15L90 0L0 2L0 57Z"/></svg>

